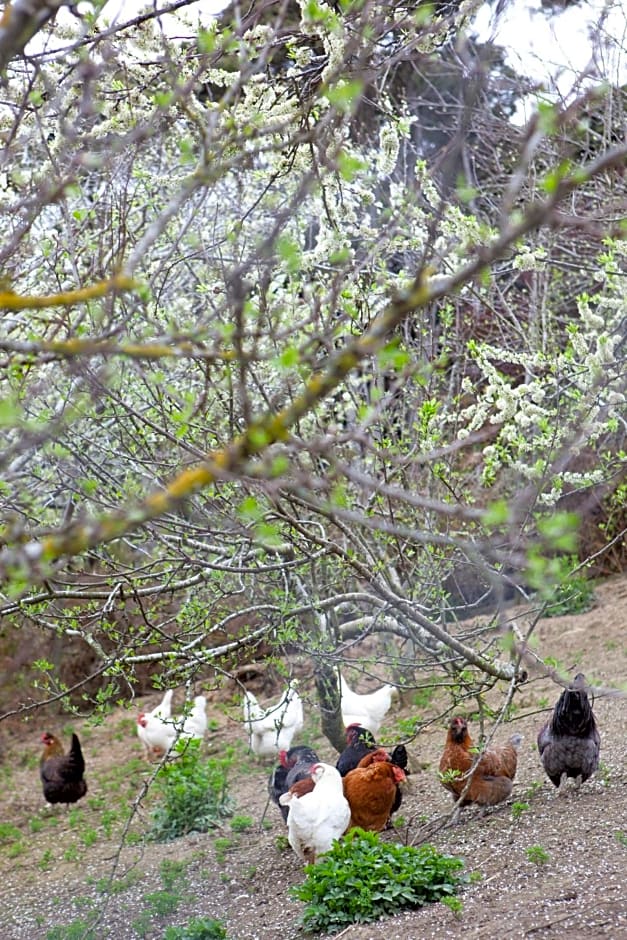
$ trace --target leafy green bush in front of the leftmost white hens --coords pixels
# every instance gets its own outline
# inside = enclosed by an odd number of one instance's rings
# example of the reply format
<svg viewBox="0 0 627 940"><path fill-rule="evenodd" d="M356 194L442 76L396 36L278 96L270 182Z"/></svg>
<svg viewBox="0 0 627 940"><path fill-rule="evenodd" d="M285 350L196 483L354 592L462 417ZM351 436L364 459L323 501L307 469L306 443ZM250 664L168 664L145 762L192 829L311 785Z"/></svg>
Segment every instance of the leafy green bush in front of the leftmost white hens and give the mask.
<svg viewBox="0 0 627 940"><path fill-rule="evenodd" d="M148 837L169 842L188 832L207 832L231 813L227 792L230 758L203 758L200 742L190 741L156 780L161 802L152 813Z"/></svg>

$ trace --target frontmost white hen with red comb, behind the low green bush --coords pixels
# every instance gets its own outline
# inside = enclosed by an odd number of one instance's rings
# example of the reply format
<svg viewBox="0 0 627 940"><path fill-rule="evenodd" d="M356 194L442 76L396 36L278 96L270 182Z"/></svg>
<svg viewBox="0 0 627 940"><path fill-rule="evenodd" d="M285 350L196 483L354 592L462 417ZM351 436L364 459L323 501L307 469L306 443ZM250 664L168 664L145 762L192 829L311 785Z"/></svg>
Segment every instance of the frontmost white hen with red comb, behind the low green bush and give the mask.
<svg viewBox="0 0 627 940"><path fill-rule="evenodd" d="M314 764L311 777L314 782L311 792L298 796L300 784L305 783L301 780L283 793L279 802L289 807L287 838L290 845L300 859L314 864L319 855L329 851L334 839L346 832L351 810L335 767Z"/></svg>

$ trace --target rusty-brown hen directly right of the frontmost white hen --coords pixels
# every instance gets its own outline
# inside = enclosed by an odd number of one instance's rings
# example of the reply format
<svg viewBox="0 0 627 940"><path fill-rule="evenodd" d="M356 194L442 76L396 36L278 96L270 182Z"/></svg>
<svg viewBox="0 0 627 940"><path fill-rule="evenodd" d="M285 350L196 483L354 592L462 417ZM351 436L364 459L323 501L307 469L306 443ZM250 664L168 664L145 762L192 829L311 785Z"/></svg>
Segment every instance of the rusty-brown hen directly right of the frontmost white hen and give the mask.
<svg viewBox="0 0 627 940"><path fill-rule="evenodd" d="M377 748L344 777L344 796L351 809L349 828L372 832L385 828L405 773L390 761L384 748ZM400 805L400 803L399 803Z"/></svg>

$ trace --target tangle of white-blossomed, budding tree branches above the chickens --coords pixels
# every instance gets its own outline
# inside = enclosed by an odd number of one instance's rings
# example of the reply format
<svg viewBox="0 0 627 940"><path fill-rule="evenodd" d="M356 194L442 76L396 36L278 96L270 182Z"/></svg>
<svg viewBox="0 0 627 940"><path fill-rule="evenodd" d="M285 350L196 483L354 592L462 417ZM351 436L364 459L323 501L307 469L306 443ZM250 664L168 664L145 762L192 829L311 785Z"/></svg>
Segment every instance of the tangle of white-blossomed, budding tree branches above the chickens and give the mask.
<svg viewBox="0 0 627 940"><path fill-rule="evenodd" d="M373 636L513 694L506 601L622 564L624 88L534 91L475 6L3 23L5 715L270 657L333 736Z"/></svg>

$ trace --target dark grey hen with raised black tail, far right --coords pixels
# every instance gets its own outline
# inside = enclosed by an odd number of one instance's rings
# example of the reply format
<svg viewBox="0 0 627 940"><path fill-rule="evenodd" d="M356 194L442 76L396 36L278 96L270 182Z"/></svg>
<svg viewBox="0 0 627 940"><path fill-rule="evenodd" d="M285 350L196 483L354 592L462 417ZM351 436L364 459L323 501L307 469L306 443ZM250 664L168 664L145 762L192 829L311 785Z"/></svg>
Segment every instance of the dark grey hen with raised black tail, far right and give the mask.
<svg viewBox="0 0 627 940"><path fill-rule="evenodd" d="M565 792L568 777L574 777L579 789L599 766L601 736L585 685L585 676L578 673L538 734L542 766L558 793Z"/></svg>

